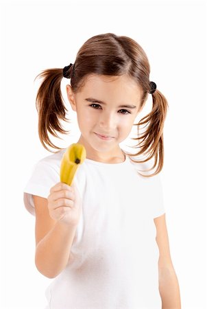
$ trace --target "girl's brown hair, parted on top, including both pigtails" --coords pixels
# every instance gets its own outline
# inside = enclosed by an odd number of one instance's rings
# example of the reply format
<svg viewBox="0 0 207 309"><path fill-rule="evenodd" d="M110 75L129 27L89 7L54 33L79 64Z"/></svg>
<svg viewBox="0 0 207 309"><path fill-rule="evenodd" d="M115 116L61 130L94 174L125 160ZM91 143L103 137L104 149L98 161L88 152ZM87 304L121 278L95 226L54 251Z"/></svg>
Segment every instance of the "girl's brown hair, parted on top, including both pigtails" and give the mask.
<svg viewBox="0 0 207 309"><path fill-rule="evenodd" d="M108 76L121 76L124 74L130 76L143 89L141 108L147 100L147 94L151 91L149 84L150 67L147 56L142 47L127 36L107 33L89 38L77 52L75 62L69 66L69 72L67 73L69 78L71 78L71 87L74 93L80 91L84 86L86 77L90 73ZM60 91L63 71L62 69L45 69L37 77L43 78L36 96L40 141L47 150L49 150L47 146L60 150L62 148L58 148L51 142L48 133L58 137L57 132L63 134L69 132L64 130L60 123L60 120L68 121L66 119L67 109L64 106L64 100ZM151 112L143 117L138 124L134 124L135 126L143 124L146 126L148 124L143 135L133 138L138 141L136 146L141 148L141 150L136 154L130 154L130 157L143 153L149 155L143 161L132 160L138 163L144 163L154 157L154 165L150 170L154 169L157 163L158 166L154 174L145 175L146 177L154 176L162 170L164 160L162 131L168 107L165 96L158 89L151 95Z"/></svg>

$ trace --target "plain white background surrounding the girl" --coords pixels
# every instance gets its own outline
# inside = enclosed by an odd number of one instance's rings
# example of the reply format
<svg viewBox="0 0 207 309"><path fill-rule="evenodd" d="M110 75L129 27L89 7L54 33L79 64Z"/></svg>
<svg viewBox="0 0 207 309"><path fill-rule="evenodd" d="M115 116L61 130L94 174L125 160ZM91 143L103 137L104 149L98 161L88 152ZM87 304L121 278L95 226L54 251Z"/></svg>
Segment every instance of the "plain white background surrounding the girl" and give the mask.
<svg viewBox="0 0 207 309"><path fill-rule="evenodd" d="M150 80L169 102L160 176L171 258L182 308L207 308L205 11L201 1L2 3L1 308L45 308L51 282L34 264L35 220L23 205L32 166L51 155L38 139L34 78L43 69L73 63L88 38L106 32L130 36L143 47ZM55 140L61 147L79 137L70 108L69 117L71 137Z"/></svg>

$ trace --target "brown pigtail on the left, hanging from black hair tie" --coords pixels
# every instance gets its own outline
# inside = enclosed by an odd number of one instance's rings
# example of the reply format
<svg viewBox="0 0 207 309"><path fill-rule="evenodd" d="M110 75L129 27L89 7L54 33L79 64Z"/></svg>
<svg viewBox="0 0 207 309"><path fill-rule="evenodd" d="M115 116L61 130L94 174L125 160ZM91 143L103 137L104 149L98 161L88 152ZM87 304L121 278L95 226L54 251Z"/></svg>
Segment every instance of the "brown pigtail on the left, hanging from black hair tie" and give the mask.
<svg viewBox="0 0 207 309"><path fill-rule="evenodd" d="M38 93L36 95L36 109L38 111L38 135L45 149L49 150L46 145L62 149L55 146L48 133L58 137L57 132L66 134L69 131L64 130L60 121L66 119L66 107L60 90L60 83L63 78L62 69L45 69L38 74L36 78L43 78ZM60 138L60 137L58 137ZM53 152L49 150L50 152Z"/></svg>

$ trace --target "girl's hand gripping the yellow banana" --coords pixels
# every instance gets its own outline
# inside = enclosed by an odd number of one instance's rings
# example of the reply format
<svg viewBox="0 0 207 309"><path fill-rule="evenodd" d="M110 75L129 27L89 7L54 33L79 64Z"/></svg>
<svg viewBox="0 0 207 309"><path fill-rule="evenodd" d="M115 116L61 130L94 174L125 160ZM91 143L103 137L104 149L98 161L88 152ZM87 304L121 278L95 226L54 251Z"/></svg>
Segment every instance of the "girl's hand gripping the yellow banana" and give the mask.
<svg viewBox="0 0 207 309"><path fill-rule="evenodd" d="M49 215L66 225L76 226L80 220L82 198L76 185L56 183L47 198Z"/></svg>

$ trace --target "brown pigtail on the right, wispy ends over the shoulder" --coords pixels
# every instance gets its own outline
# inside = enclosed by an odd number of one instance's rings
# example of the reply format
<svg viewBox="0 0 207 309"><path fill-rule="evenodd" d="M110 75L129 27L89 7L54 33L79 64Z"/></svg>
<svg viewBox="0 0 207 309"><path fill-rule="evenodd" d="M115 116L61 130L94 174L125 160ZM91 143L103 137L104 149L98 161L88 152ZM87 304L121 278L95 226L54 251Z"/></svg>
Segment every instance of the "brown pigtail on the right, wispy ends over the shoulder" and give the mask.
<svg viewBox="0 0 207 309"><path fill-rule="evenodd" d="M143 161L132 161L138 163L144 163L154 157L154 165L149 170L153 170L158 164L156 171L152 175L143 175L146 177L154 176L158 174L162 170L162 166L164 163L164 144L163 144L163 127L165 118L167 115L168 103L160 91L156 90L152 95L152 110L149 114L143 117L138 124L138 126L142 126L143 124L147 126L147 129L140 135L139 137L132 138L134 140L138 140L138 148L141 150L134 154L130 155L130 157L135 157L137 155L142 155L144 152L147 152L147 158ZM141 142L140 142L141 140ZM136 146L134 148L136 148ZM145 170L145 171L149 171Z"/></svg>

